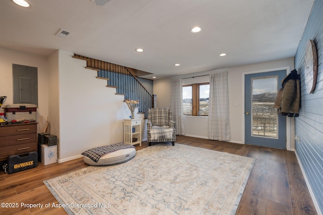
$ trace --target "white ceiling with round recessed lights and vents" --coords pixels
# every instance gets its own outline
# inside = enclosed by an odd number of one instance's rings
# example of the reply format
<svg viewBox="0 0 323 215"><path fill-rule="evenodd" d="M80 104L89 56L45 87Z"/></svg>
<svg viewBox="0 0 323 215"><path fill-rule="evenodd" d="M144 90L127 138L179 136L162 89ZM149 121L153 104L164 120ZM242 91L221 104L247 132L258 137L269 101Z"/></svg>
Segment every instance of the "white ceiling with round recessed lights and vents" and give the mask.
<svg viewBox="0 0 323 215"><path fill-rule="evenodd" d="M160 79L293 57L314 0L28 2L1 0L1 47L44 56L62 49ZM60 29L72 34L61 38Z"/></svg>

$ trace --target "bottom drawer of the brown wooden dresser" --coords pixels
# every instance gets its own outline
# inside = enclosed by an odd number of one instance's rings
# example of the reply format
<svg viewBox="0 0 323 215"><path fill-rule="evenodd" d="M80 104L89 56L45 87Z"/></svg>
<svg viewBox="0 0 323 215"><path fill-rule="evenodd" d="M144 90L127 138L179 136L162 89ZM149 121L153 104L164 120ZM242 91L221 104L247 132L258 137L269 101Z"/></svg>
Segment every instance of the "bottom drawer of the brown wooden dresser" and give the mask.
<svg viewBox="0 0 323 215"><path fill-rule="evenodd" d="M7 146L0 148L0 160L11 155L19 155L27 152L37 151L36 142L29 142L28 144L19 144L15 146Z"/></svg>

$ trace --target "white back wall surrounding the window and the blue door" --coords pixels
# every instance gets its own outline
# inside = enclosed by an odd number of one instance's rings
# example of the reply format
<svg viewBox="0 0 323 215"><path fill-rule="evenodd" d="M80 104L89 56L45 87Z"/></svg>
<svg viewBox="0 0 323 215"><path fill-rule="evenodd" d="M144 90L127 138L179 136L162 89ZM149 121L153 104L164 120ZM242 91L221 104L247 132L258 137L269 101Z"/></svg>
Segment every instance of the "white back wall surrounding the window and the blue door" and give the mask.
<svg viewBox="0 0 323 215"><path fill-rule="evenodd" d="M188 78L194 76L208 75L212 73L219 73L228 71L229 78L229 102L230 102L230 124L231 124L231 142L244 144L244 74L258 73L267 69L275 69L281 67L294 68L294 58L287 58L282 60L257 63L245 66L238 66L226 69L217 69L205 71L202 73L179 76L180 78ZM290 70L289 70L290 71ZM171 79L154 80L153 92L157 95L158 107L171 106ZM186 79L184 79L186 80ZM183 81L184 81L183 80ZM185 81L186 82L186 81ZM292 122L291 122L292 123ZM185 117L186 135L198 136L202 138L207 137L207 118L205 117ZM294 129L292 125L292 129ZM292 132L293 130L291 130ZM290 136L293 136L292 134ZM290 140L293 142L293 139ZM288 145L290 142L288 143ZM293 144L291 147L293 149Z"/></svg>

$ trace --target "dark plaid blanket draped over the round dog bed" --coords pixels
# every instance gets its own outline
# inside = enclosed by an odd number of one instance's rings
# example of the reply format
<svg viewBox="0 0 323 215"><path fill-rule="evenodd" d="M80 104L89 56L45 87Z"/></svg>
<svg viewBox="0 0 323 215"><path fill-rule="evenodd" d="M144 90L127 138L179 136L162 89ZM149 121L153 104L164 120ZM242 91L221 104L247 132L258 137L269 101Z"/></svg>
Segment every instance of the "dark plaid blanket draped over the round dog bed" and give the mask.
<svg viewBox="0 0 323 215"><path fill-rule="evenodd" d="M89 150L86 150L81 155L84 155L90 158L92 161L97 162L103 155L115 152L117 150L136 148L130 144L125 144L124 142L118 142L117 144L112 144L103 147L96 147Z"/></svg>

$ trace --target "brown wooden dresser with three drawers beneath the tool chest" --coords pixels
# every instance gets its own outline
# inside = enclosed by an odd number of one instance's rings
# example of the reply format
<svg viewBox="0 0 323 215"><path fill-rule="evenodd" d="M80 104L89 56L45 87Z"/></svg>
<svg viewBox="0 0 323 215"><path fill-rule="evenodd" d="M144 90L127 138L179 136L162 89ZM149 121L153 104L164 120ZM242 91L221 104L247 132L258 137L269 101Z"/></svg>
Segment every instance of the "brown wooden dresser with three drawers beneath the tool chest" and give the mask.
<svg viewBox="0 0 323 215"><path fill-rule="evenodd" d="M37 151L37 122L0 125L0 161Z"/></svg>

